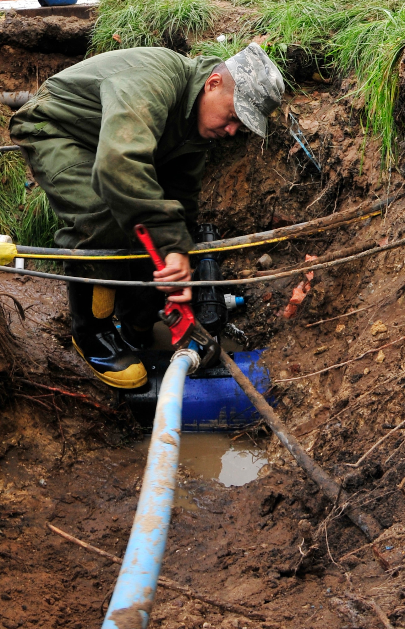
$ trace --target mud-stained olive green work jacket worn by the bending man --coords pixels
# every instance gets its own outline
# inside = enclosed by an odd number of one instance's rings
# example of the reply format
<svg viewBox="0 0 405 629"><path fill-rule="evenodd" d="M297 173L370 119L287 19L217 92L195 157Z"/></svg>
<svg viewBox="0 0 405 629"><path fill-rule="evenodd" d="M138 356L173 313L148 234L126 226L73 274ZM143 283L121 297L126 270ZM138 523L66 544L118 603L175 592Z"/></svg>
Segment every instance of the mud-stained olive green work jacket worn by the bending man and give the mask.
<svg viewBox="0 0 405 629"><path fill-rule="evenodd" d="M144 223L163 255L185 253L209 145L194 105L219 63L167 48L96 55L45 81L15 115L12 135L35 135L47 121L62 128L94 151L91 186L121 230L133 239Z"/></svg>

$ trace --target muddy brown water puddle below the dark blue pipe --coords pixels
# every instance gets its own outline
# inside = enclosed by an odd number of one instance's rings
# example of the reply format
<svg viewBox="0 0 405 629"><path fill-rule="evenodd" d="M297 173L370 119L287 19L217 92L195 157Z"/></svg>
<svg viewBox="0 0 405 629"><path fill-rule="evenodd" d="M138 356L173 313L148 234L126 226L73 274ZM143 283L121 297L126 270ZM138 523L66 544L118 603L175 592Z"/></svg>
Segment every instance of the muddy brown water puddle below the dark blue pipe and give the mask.
<svg viewBox="0 0 405 629"><path fill-rule="evenodd" d="M136 444L136 449L147 454L150 437ZM260 442L259 442L260 445ZM203 480L214 479L225 487L245 485L259 476L260 469L268 464L265 450L248 437L231 440L230 435L183 433L180 441L179 466L189 467ZM175 506L196 509L192 490L177 487Z"/></svg>

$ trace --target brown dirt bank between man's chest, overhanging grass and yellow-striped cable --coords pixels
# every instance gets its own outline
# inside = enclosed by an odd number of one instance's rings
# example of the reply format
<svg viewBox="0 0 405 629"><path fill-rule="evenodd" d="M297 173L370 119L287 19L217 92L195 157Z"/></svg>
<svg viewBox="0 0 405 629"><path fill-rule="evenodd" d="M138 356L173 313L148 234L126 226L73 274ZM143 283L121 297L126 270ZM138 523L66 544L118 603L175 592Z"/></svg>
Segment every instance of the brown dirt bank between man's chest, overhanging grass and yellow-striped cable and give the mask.
<svg viewBox="0 0 405 629"><path fill-rule="evenodd" d="M324 216L380 191L378 142L362 146L356 111L338 98L338 91L287 93L270 119L267 142L238 133L216 143L203 182L201 220L218 223L223 235L253 233ZM320 172L290 134L290 111Z"/></svg>

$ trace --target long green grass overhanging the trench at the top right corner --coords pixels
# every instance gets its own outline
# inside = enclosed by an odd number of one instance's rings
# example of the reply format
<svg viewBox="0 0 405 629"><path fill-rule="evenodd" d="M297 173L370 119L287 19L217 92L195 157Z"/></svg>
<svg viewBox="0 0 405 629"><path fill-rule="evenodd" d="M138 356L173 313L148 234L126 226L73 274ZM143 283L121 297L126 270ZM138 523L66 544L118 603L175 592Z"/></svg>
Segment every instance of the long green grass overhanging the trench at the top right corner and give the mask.
<svg viewBox="0 0 405 629"><path fill-rule="evenodd" d="M261 0L254 24L269 34L266 50L286 81L291 51L299 47L305 62L328 67L341 78L352 74L353 96L365 101L362 126L381 139L382 167L396 160L394 120L399 80L397 64L405 47L405 4L387 0L379 6L338 0ZM306 59L305 59L306 57Z"/></svg>

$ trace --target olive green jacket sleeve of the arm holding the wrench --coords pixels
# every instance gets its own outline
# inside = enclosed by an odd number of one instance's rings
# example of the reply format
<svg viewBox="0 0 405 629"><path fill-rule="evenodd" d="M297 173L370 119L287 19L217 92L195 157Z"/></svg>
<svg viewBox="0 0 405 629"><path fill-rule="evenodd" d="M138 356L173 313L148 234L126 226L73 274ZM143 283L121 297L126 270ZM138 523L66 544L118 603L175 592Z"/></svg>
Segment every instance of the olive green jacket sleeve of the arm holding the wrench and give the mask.
<svg viewBox="0 0 405 629"><path fill-rule="evenodd" d="M180 201L164 198L154 164L178 85L179 81L167 81L160 70L142 67L104 79L103 115L92 170L92 187L120 228L134 238L133 226L144 223L164 257L192 247L185 209Z"/></svg>

